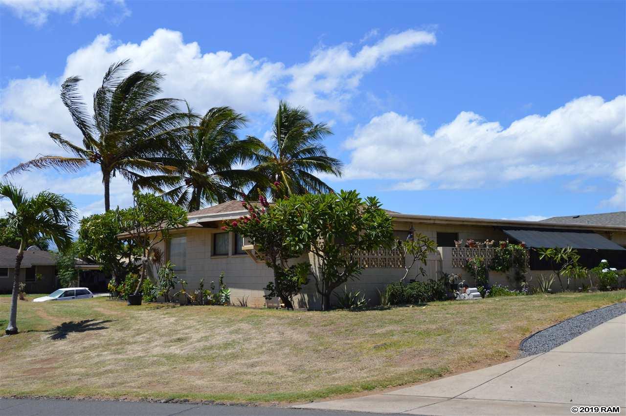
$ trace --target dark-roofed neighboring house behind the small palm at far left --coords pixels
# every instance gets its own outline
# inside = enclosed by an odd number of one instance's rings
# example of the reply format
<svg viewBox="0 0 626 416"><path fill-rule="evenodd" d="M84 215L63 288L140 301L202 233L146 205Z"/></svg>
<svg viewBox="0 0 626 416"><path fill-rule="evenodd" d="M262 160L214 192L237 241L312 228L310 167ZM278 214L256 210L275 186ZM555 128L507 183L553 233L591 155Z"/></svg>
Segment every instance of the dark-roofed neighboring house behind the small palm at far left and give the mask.
<svg viewBox="0 0 626 416"><path fill-rule="evenodd" d="M0 293L11 293L16 248L0 246ZM50 251L24 251L19 281L26 283L26 293L50 293L56 290L56 259Z"/></svg>

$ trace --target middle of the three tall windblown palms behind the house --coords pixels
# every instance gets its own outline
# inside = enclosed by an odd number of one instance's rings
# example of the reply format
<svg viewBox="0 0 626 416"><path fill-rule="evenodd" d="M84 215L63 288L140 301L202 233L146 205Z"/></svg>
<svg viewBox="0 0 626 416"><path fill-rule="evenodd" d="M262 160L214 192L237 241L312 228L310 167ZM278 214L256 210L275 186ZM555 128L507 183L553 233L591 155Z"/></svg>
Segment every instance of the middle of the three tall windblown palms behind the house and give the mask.
<svg viewBox="0 0 626 416"><path fill-rule="evenodd" d="M191 110L188 114L187 135L178 146L170 146L169 155L161 160L176 170L170 175L139 176L133 188L161 193L187 211L243 198L242 188L259 180L253 171L233 169L235 163L250 160L257 149L256 140L237 137L247 119L230 107L212 108L202 118Z"/></svg>

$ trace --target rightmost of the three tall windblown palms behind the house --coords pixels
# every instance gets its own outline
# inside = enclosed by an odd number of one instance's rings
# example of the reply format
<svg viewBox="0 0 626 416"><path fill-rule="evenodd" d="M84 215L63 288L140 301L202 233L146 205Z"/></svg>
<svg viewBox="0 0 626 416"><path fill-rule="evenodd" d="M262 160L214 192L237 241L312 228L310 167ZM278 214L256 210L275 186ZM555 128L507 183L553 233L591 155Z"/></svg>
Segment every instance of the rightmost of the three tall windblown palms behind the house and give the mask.
<svg viewBox="0 0 626 416"><path fill-rule="evenodd" d="M280 101L271 145L251 137L257 143L252 168L265 178L254 185L249 196L257 197L270 191L274 198L303 193L325 193L332 191L315 173L341 176L343 163L331 158L321 141L332 134L324 123L313 123L304 108L293 108ZM274 185L270 185L274 181Z"/></svg>

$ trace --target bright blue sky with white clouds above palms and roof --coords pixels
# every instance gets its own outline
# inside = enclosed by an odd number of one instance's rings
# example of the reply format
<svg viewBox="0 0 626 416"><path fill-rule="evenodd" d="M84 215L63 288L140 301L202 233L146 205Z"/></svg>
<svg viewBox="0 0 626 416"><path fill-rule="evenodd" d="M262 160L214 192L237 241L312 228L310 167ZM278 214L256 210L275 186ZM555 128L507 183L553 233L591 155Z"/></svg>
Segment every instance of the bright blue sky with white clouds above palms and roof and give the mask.
<svg viewBox="0 0 626 416"><path fill-rule="evenodd" d="M106 67L167 74L199 112L230 105L263 137L278 99L332 125L334 188L424 215L541 218L625 209L624 2L3 1L4 172L80 140L58 99ZM96 168L15 176L103 210ZM113 184L113 205L130 203ZM6 209L6 207L3 207Z"/></svg>

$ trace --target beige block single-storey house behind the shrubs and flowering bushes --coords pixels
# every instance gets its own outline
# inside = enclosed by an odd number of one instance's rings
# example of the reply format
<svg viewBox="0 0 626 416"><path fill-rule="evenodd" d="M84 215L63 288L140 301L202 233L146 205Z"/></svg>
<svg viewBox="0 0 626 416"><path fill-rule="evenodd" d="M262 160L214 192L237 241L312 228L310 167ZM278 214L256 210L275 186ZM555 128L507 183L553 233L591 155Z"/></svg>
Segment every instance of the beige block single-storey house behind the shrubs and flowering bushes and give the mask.
<svg viewBox="0 0 626 416"><path fill-rule="evenodd" d="M617 268L626 268L626 226L550 223L547 221L488 220L484 218L458 218L449 216L409 215L388 211L394 219L394 233L398 238L406 238L411 228L415 233L423 233L436 241L437 252L429 257L425 267L426 276L418 280L438 278L442 272L462 273L463 279L471 282L468 273L463 271L468 257L490 256L487 248L456 248L454 240L472 238L511 242L525 241L529 247L573 246L582 255L585 266L595 266L606 258ZM220 272L225 273L225 283L231 290L231 299L248 298L250 306L262 307L266 304L263 288L273 280L272 270L265 263L254 259L254 246L244 241L242 236L223 232L222 225L232 221L247 211L240 201L229 201L203 210L188 213L188 226L170 230L171 239L162 243L167 260L175 265L175 273L188 283L188 290L198 288L200 278L205 288L211 281L217 282ZM314 264L312 255L307 256ZM364 266L361 278L349 282L349 290L361 290L372 303L378 301L377 289L403 276L402 259L395 250L378 250L362 253L359 262ZM534 250L530 251L530 271L527 276L539 273L549 274L548 266L540 261ZM419 266L416 267L419 270ZM412 270L415 278L415 272ZM505 275L490 273L491 283L510 284ZM555 283L557 285L557 283ZM557 286L553 286L557 288ZM339 288L341 292L343 288ZM316 308L320 300L313 283L302 290L296 300L299 307ZM275 305L275 302L268 302Z"/></svg>

